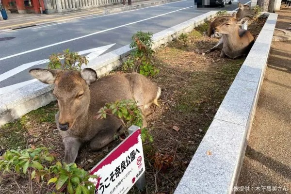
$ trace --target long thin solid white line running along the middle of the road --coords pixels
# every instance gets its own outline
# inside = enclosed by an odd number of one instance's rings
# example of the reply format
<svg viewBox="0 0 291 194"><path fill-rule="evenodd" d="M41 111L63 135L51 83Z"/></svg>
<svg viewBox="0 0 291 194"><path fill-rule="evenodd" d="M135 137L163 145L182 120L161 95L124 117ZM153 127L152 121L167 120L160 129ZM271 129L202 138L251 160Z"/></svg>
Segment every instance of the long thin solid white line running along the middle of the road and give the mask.
<svg viewBox="0 0 291 194"><path fill-rule="evenodd" d="M193 6L190 6L190 7L193 7ZM69 39L69 40L62 41L62 42L58 42L58 43L54 43L54 44L51 44L51 45L47 45L47 46L44 46L44 47L39 47L39 48L36 48L36 49L31 49L31 50L27 50L27 51L24 51L24 52L19 52L19 53L14 54L14 55L9 55L9 56L6 56L6 57L2 57L2 58L0 58L0 61L5 60L5 59L9 59L9 58L12 58L12 57L16 57L16 56L19 56L19 55L23 55L23 54L26 54L26 53L30 53L30 52L33 52L33 51L36 51L36 50L46 49L46 48L53 47L53 46L56 46L56 45L60 45L60 44L63 44L63 43L71 42L71 41L78 40L78 39L81 39L81 38L85 38L85 37L88 37L88 36L92 36L92 35L95 35L95 34L98 34L98 33L107 32L107 31L111 31L111 30L118 29L118 28L121 28L121 27L129 26L131 24L136 24L136 23L139 23L139 22L142 22L142 21L146 21L146 20L149 20L149 19L153 19L153 18L156 18L156 17L165 16L167 14L175 13L175 12L178 12L178 11L181 11L181 10L184 10L184 9L188 9L190 7L181 8L181 9L178 9L178 10L175 10L175 11L172 11L172 12L167 12L165 14L161 14L161 15L158 15L158 16L148 17L146 19L141 19L141 20L138 20L138 21L130 22L130 23L127 23L127 24L123 24L123 25L120 25L120 26L116 26L116 27L113 27L113 28L106 29L106 30L90 33L90 34L83 35L83 36L80 36L80 37L77 37L77 38L72 38L72 39Z"/></svg>

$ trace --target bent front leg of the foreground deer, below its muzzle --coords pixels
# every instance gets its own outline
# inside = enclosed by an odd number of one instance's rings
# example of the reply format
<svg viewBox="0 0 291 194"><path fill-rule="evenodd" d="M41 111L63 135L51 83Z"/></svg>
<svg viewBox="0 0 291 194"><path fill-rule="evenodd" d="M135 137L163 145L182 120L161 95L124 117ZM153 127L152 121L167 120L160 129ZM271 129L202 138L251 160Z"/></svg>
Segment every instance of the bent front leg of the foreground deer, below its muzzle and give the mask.
<svg viewBox="0 0 291 194"><path fill-rule="evenodd" d="M65 145L65 163L69 164L75 162L81 146L81 141L78 138L66 136L63 139L63 143Z"/></svg>

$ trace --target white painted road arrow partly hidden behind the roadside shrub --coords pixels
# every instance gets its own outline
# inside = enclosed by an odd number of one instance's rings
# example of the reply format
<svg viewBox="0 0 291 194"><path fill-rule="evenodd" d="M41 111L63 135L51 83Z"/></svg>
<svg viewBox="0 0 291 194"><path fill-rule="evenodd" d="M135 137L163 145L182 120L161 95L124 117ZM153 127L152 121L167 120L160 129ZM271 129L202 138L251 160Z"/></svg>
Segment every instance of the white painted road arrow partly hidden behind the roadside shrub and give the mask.
<svg viewBox="0 0 291 194"><path fill-rule="evenodd" d="M103 52L105 52L106 50L110 49L114 44L111 44L111 45L106 45L106 46L103 46L103 47L98 47L98 48L94 48L94 49L87 49L87 50L82 50L80 52L78 52L80 55L83 55L83 54L87 54L87 53L90 53L87 57L88 57L88 60L94 58L94 57L97 57L99 56L100 54L102 54ZM92 54L94 54L94 57ZM41 65L41 64L46 64L49 62L49 59L43 59L43 60L39 60L39 61L34 61L34 62L31 62L31 63L27 63L27 64L23 64L23 65L19 65L17 66L16 68L14 69L11 69L9 71L6 71L5 73L2 73L0 75L0 81L3 81L3 80L6 80L7 78L10 78L11 76L14 76L16 75L17 73L25 70L25 69L28 69L34 65Z"/></svg>

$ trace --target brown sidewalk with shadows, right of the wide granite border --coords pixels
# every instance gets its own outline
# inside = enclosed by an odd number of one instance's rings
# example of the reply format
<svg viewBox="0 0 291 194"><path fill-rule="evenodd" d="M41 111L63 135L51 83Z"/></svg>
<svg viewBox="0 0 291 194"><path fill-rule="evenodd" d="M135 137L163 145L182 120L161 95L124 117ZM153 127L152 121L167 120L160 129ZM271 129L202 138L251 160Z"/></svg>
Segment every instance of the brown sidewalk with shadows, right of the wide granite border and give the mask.
<svg viewBox="0 0 291 194"><path fill-rule="evenodd" d="M281 6L276 14L276 28L290 27L291 8ZM291 41L276 41L271 47L234 190L237 194L291 194Z"/></svg>

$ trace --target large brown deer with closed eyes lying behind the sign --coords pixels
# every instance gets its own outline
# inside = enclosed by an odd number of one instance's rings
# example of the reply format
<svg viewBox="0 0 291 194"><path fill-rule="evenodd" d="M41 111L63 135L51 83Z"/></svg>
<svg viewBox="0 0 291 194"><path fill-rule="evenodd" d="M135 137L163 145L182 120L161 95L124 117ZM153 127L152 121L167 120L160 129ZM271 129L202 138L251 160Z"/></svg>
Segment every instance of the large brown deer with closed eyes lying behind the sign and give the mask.
<svg viewBox="0 0 291 194"><path fill-rule="evenodd" d="M100 150L121 132L121 121L112 115L96 119L99 109L108 102L133 99L144 116L150 104L158 105L161 88L138 73L113 74L97 80L91 68L76 70L31 69L30 74L41 82L54 84L59 112L56 123L65 145L65 162L75 162L81 144L90 142L93 151ZM146 122L143 122L144 127ZM121 133L120 133L121 134Z"/></svg>

